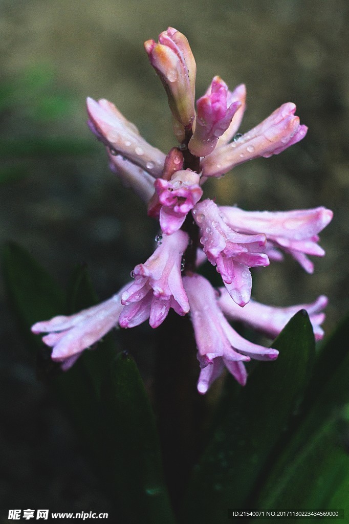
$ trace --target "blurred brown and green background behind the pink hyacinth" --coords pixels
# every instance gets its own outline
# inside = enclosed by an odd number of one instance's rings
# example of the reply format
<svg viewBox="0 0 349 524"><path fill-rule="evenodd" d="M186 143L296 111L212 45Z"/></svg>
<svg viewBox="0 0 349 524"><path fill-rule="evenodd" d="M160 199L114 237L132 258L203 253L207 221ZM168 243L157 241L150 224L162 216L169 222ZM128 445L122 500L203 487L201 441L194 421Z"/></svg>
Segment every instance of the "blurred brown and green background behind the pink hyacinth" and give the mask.
<svg viewBox="0 0 349 524"><path fill-rule="evenodd" d="M62 285L75 264L88 263L101 299L151 254L156 224L108 172L84 100L105 97L150 143L166 152L176 145L143 48L170 25L190 41L198 96L216 74L230 88L246 83L242 132L288 101L309 126L298 145L235 168L206 194L250 210L334 210L313 275L287 259L255 272L253 289L257 300L279 305L328 295L331 331L349 289L347 23L344 0L2 0L1 244L27 248ZM68 420L36 380L2 281L0 300L0 507L107 511ZM146 326L127 336L129 347L139 337L151 343ZM147 379L146 352L135 355Z"/></svg>

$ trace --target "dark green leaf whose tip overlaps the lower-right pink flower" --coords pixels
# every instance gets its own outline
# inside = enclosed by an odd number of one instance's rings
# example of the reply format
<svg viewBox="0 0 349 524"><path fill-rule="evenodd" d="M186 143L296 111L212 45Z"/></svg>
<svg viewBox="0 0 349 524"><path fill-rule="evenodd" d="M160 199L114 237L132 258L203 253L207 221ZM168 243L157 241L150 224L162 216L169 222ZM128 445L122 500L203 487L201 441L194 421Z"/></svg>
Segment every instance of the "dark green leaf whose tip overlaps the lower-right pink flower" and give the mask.
<svg viewBox="0 0 349 524"><path fill-rule="evenodd" d="M272 347L280 352L277 360L258 365L197 465L185 522L223 522L227 508L245 504L274 460L272 450L297 409L314 357L305 311L293 316Z"/></svg>

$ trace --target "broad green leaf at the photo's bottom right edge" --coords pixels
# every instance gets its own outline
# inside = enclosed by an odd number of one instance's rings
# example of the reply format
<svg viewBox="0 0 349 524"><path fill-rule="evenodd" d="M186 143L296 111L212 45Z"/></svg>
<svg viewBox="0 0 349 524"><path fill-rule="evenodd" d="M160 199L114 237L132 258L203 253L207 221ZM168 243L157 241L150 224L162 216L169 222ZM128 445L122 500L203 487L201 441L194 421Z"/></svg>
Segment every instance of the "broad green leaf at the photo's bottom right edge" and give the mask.
<svg viewBox="0 0 349 524"><path fill-rule="evenodd" d="M349 457L339 448L337 419L343 403L349 402L348 336L345 318L323 345L298 427L271 469L256 507L286 502L289 507L331 507L329 500L347 486Z"/></svg>

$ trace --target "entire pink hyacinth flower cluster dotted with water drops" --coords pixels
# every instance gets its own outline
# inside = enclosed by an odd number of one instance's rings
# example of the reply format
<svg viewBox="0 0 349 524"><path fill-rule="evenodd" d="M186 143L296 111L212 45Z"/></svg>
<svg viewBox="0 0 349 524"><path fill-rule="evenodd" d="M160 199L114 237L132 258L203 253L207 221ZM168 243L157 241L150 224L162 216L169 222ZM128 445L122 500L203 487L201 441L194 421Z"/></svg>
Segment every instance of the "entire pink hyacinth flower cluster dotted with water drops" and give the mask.
<svg viewBox="0 0 349 524"><path fill-rule="evenodd" d="M247 160L278 155L301 140L307 127L295 116L296 106L286 103L237 135L245 111L243 84L230 91L214 77L195 111L196 64L187 38L169 27L158 43L146 41L145 49L165 87L179 146L165 155L107 100L88 99L87 107L89 127L105 145L110 168L147 203L149 216L159 220L155 251L134 268L133 282L111 299L38 322L32 331L47 333L42 340L53 348L52 359L68 369L114 326L132 328L149 319L157 328L172 308L190 314L201 368L198 391L205 393L224 368L244 385L245 362L273 360L278 352L245 340L227 319L274 337L293 314L306 309L315 337L321 339L326 297L287 308L260 304L250 299L250 268L281 260L284 252L312 272L308 255L324 255L318 234L332 212L322 207L260 212L219 206L202 200L202 185ZM222 277L219 290L197 272L206 259Z"/></svg>

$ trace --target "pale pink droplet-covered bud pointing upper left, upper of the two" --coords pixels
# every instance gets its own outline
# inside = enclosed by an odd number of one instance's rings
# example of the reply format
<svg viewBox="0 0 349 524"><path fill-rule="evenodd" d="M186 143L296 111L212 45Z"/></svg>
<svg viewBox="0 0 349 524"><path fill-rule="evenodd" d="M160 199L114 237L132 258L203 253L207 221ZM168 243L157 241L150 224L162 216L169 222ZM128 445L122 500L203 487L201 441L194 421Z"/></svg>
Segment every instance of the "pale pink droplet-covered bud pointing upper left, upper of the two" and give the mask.
<svg viewBox="0 0 349 524"><path fill-rule="evenodd" d="M107 100L87 99L89 127L112 155L121 155L132 163L160 177L166 155L152 147L139 135L137 127L128 122L114 104Z"/></svg>

